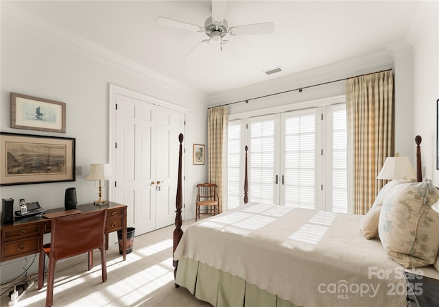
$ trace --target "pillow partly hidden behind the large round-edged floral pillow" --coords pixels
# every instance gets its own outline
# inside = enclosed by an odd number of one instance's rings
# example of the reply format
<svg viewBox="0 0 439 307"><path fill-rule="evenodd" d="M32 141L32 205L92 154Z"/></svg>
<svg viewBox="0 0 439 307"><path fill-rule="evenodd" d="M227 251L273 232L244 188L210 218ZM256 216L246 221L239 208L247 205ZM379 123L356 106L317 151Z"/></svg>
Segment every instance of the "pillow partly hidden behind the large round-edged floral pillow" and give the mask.
<svg viewBox="0 0 439 307"><path fill-rule="evenodd" d="M378 235L378 221L379 212L381 211L381 205L383 204L385 197L392 190L392 188L397 184L401 184L404 182L409 181L405 179L396 179L388 182L388 184L385 184L385 186L381 188L377 197L375 198L374 203L372 204L372 207L369 209L368 213L361 222L360 230L361 232L363 232L364 238L367 238L369 240L371 238L375 238L375 236Z"/></svg>

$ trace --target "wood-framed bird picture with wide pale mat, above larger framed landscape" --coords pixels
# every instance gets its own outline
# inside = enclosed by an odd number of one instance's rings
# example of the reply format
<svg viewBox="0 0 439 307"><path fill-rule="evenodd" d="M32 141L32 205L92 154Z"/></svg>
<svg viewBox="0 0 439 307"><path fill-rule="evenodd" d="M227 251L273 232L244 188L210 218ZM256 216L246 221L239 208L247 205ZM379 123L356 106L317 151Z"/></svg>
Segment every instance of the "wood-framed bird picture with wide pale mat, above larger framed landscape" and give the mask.
<svg viewBox="0 0 439 307"><path fill-rule="evenodd" d="M11 93L11 128L66 133L66 104Z"/></svg>

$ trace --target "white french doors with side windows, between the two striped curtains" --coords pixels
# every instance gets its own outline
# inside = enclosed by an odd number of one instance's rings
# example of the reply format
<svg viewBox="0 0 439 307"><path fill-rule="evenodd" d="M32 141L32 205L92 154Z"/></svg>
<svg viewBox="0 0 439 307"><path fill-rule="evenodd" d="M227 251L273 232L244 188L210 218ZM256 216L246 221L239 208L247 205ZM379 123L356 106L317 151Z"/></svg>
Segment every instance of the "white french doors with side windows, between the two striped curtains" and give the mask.
<svg viewBox="0 0 439 307"><path fill-rule="evenodd" d="M343 103L230 121L229 208L242 203L245 144L249 201L347 212L345 112Z"/></svg>

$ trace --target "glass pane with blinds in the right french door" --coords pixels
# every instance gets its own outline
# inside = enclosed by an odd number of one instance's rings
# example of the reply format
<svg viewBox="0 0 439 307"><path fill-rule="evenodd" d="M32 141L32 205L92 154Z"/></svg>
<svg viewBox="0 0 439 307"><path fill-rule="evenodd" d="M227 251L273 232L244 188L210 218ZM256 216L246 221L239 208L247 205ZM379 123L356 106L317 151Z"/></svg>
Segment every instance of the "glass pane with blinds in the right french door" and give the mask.
<svg viewBox="0 0 439 307"><path fill-rule="evenodd" d="M289 112L284 116L283 127L285 205L313 209L316 206L316 109Z"/></svg>

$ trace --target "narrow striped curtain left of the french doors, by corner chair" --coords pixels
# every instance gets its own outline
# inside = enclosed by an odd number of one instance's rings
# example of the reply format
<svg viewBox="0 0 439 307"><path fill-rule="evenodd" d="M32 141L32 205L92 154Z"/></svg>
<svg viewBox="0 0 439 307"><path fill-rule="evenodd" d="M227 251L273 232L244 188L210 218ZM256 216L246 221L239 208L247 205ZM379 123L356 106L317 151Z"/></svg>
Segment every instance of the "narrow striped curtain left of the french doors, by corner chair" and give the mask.
<svg viewBox="0 0 439 307"><path fill-rule="evenodd" d="M219 212L223 211L223 195L227 195L227 136L228 108L226 106L209 108L207 122L209 182L218 186ZM227 210L227 206L224 207L224 210Z"/></svg>

